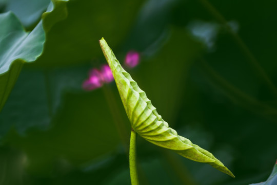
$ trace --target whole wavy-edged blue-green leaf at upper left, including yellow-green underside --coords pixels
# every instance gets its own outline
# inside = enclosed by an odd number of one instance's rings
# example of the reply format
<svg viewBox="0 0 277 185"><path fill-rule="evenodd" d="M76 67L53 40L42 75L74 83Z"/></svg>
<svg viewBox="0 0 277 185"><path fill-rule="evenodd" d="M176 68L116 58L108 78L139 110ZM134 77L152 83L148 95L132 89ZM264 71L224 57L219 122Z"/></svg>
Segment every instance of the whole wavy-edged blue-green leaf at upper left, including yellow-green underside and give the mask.
<svg viewBox="0 0 277 185"><path fill-rule="evenodd" d="M26 33L21 23L14 14L8 12L1 15L0 22L3 25L0 31L0 111L3 108L17 77L22 64L35 61L43 51L45 31L66 16L63 10L66 0L50 3L44 14L44 22L39 22L30 32ZM52 15L57 18L51 17ZM44 28L43 28L44 24Z"/></svg>

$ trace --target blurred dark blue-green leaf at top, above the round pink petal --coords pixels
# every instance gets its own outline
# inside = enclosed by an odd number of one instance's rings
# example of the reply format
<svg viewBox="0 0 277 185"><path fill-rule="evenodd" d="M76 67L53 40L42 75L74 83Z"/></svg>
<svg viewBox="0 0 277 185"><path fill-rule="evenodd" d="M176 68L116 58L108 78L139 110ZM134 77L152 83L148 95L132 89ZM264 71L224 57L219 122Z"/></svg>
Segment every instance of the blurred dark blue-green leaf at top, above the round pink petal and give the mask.
<svg viewBox="0 0 277 185"><path fill-rule="evenodd" d="M170 13L177 2L176 0L146 1L138 12L135 24L122 47L125 50L135 49L147 55L159 50L162 46L161 42L167 36L171 19Z"/></svg>

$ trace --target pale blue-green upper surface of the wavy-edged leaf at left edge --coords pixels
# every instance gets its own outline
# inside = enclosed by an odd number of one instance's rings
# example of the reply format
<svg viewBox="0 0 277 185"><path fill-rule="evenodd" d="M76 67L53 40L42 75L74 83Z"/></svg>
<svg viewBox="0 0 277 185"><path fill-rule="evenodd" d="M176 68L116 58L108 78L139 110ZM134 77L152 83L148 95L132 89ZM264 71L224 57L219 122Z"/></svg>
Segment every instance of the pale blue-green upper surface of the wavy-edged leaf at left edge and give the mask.
<svg viewBox="0 0 277 185"><path fill-rule="evenodd" d="M11 12L0 16L0 23L5 26L0 32L0 74L7 72L16 59L26 62L36 60L42 53L45 41L42 24L39 23L33 31L27 33Z"/></svg>

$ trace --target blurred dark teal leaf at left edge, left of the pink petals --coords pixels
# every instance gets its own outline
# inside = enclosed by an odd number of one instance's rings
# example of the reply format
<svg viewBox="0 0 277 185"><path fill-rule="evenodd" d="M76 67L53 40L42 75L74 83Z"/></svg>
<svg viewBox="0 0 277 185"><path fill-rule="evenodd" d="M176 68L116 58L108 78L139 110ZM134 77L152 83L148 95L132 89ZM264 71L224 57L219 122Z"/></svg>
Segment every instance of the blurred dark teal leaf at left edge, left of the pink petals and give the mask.
<svg viewBox="0 0 277 185"><path fill-rule="evenodd" d="M0 138L11 127L21 135L29 128L49 128L63 93L82 91L81 84L87 78L88 68L85 65L47 71L26 69L25 65L0 113Z"/></svg>

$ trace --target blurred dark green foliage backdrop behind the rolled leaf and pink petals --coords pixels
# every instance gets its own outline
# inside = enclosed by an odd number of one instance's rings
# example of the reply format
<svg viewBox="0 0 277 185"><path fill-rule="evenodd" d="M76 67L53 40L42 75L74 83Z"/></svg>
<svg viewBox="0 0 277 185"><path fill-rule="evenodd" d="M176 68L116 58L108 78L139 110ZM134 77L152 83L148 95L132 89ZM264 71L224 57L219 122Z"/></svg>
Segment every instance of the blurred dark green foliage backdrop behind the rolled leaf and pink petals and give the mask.
<svg viewBox="0 0 277 185"><path fill-rule="evenodd" d="M0 12L32 31L49 3L1 0ZM82 89L88 71L106 64L102 36L122 63L140 52L127 70L159 114L236 176L138 138L142 184L267 179L277 158L277 2L53 4L43 52L24 64L0 113L0 184L130 184L130 124L114 82Z"/></svg>

